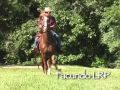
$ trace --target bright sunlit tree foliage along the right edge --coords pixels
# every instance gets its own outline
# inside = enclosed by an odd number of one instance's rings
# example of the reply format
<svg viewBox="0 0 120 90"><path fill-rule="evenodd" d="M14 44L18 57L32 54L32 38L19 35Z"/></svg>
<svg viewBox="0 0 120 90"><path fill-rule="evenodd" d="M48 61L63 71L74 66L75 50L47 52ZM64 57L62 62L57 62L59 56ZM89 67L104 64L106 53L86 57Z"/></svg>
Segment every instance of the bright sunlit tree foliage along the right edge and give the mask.
<svg viewBox="0 0 120 90"><path fill-rule="evenodd" d="M102 14L100 30L102 34L102 43L109 47L109 51L115 57L114 60L120 60L120 1L116 1L111 7L105 8ZM113 61L113 60L111 60Z"/></svg>

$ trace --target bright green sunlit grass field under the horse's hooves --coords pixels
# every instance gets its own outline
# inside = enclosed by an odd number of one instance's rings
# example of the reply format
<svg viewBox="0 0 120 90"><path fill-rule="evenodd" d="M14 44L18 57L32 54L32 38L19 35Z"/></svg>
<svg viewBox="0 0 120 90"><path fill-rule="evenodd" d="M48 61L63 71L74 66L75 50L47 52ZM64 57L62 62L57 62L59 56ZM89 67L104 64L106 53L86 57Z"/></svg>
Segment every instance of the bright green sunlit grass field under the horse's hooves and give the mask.
<svg viewBox="0 0 120 90"><path fill-rule="evenodd" d="M62 73L82 74L111 72L106 79L58 79L52 69L50 76L36 68L0 67L0 90L120 90L119 69L96 69L78 66L60 66Z"/></svg>

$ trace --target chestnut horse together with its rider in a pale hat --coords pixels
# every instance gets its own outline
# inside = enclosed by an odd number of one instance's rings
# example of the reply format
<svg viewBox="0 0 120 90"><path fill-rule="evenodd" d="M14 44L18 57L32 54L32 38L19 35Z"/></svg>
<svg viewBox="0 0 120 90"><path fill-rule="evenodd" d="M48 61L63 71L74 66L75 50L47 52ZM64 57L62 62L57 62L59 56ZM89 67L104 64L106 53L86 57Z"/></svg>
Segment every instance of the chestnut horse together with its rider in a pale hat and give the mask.
<svg viewBox="0 0 120 90"><path fill-rule="evenodd" d="M35 48L38 48L41 53L41 65L46 75L50 75L52 65L59 71L55 56L57 50L60 50L60 37L54 31L57 24L51 11L49 7L46 7L41 13L38 20L38 26L41 30L35 38Z"/></svg>

